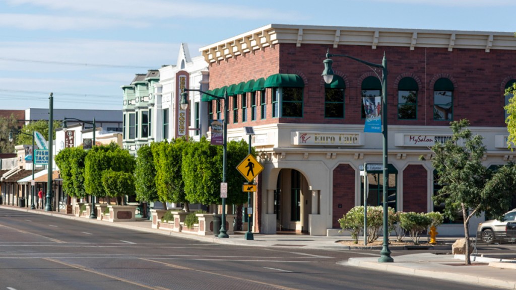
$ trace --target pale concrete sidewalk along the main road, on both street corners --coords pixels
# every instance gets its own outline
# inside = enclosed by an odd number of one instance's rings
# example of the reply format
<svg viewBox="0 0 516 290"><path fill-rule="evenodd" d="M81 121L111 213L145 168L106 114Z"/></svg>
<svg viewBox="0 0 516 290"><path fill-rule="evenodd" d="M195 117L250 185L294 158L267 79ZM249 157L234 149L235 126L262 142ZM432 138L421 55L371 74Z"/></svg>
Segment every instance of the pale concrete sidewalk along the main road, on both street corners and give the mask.
<svg viewBox="0 0 516 290"><path fill-rule="evenodd" d="M170 235L175 237L195 239L207 243L218 243L226 245L254 246L254 247L279 247L279 248L311 248L322 250L349 250L349 247L336 243L338 240L349 237L326 237L311 235L289 235L289 234L254 234L254 240L245 240L243 234L233 234L229 238L218 238L215 236L198 236L186 233L176 233L167 230L151 228L151 221L137 220L130 222L107 222L96 219L79 218L73 215L66 215L57 212L45 212L42 210L28 210L13 206L0 205L0 208L9 210L31 212L56 216L61 218L74 219L82 222L91 222L123 229L136 230L141 232ZM402 250L402 248L391 247L391 250ZM480 253L479 253L480 255ZM432 253L418 253L393 256L394 263L379 263L378 257L350 258L349 261L338 262L346 266L363 267L372 270L393 272L402 275L427 277L431 279L442 279L462 283L471 283L479 286L495 286L504 289L516 290L516 261L494 259L482 256L471 256L471 266L464 265L464 255Z"/></svg>

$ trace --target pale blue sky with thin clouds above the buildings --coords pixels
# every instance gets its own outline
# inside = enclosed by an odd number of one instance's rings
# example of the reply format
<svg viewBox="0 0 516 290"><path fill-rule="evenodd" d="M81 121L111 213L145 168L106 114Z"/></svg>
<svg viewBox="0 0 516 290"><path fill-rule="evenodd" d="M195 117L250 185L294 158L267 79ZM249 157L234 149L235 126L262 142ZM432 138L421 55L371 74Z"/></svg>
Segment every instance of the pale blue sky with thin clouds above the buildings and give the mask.
<svg viewBox="0 0 516 290"><path fill-rule="evenodd" d="M0 0L0 109L122 109L136 73L268 24L514 32L514 0Z"/></svg>

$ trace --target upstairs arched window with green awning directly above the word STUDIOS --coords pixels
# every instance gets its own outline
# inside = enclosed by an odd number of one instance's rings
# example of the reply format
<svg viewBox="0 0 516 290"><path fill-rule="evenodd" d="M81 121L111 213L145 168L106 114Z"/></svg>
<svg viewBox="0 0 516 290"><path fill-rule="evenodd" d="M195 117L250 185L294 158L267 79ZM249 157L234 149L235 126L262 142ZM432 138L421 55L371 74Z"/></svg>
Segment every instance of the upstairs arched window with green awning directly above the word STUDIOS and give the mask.
<svg viewBox="0 0 516 290"><path fill-rule="evenodd" d="M433 119L453 120L453 83L447 78L440 78L433 85Z"/></svg>

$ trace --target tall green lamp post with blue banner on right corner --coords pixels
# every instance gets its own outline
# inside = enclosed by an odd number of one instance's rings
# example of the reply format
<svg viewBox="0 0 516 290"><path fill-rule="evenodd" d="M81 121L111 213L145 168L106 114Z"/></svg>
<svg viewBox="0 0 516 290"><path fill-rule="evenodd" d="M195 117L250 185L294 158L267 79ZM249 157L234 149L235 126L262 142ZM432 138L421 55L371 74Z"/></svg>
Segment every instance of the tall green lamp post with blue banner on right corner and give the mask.
<svg viewBox="0 0 516 290"><path fill-rule="evenodd" d="M372 63L368 61L364 61L362 59L352 57L345 54L330 54L326 53L326 59L323 61L325 69L322 72L322 77L324 78L327 84L331 84L333 80L333 70L331 65L333 60L330 57L347 57L352 60L356 60L358 62L364 63L364 65L374 68L380 68L382 70L382 135L383 135L383 245L382 250L380 251L380 257L378 258L378 262L394 262L394 259L391 257L391 251L389 250L389 226L388 226L388 209L387 209L387 188L388 188L388 180L389 180L389 170L388 170L388 148L387 148L387 60L385 58L385 53L383 53L382 64ZM366 206L366 201L364 200L364 206Z"/></svg>

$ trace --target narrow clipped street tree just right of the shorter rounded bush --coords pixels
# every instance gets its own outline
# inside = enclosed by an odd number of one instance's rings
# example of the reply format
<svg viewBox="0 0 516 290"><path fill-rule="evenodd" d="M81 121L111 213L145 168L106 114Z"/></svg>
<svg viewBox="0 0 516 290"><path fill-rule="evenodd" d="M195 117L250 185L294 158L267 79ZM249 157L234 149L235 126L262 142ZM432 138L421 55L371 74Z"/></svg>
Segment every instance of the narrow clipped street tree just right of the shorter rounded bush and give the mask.
<svg viewBox="0 0 516 290"><path fill-rule="evenodd" d="M136 200L150 202L159 200L155 177L156 168L154 167L151 147L142 146L138 149L134 170Z"/></svg>

